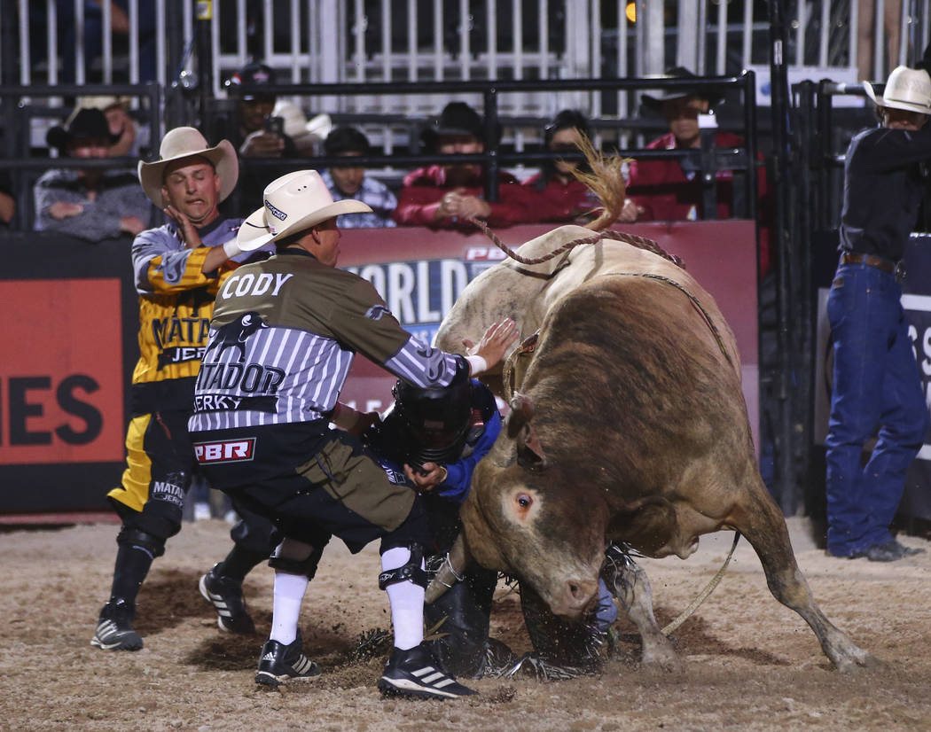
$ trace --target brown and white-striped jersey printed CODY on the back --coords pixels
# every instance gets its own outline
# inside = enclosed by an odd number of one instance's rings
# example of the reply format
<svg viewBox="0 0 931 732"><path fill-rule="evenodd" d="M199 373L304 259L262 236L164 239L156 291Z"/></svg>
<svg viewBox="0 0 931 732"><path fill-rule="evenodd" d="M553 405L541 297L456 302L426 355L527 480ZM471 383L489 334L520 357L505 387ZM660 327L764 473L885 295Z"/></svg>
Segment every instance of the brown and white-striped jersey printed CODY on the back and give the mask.
<svg viewBox="0 0 931 732"><path fill-rule="evenodd" d="M356 353L421 387L467 368L405 331L369 282L303 249L240 267L217 293L188 428L328 418Z"/></svg>

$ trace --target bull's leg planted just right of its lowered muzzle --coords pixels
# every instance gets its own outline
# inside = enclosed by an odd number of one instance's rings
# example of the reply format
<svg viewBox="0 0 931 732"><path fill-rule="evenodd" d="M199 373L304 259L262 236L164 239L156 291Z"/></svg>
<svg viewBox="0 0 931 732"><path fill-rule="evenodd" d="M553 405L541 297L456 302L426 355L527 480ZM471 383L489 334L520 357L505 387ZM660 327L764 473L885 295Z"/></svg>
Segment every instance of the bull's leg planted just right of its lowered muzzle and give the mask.
<svg viewBox="0 0 931 732"><path fill-rule="evenodd" d="M643 665L668 672L681 671L680 659L654 617L653 592L646 572L627 552L612 545L605 552L601 579L641 634Z"/></svg>

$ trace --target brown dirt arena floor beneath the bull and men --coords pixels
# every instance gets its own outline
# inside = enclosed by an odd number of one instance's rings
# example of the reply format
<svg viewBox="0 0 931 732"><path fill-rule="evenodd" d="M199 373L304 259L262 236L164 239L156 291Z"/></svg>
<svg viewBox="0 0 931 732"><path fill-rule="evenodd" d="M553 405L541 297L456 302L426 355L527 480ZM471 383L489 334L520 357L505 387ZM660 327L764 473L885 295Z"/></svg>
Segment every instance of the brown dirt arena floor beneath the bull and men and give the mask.
<svg viewBox="0 0 931 732"><path fill-rule="evenodd" d="M828 617L883 661L842 675L803 620L776 603L746 542L705 605L674 634L681 672L645 672L626 621L596 677L471 682L454 702L382 699L385 656L359 638L389 628L374 547L328 548L304 601L316 681L276 692L252 681L268 632L272 572L246 592L260 635L221 633L197 579L229 547L220 520L185 524L139 597L137 653L92 648L115 558L115 525L0 534L0 729L11 730L926 730L931 725L931 548L891 565L832 559L801 519L799 565ZM661 623L721 565L733 535L704 537L687 561L645 560ZM902 538L912 546L928 542ZM528 649L517 597L499 586L492 633Z"/></svg>

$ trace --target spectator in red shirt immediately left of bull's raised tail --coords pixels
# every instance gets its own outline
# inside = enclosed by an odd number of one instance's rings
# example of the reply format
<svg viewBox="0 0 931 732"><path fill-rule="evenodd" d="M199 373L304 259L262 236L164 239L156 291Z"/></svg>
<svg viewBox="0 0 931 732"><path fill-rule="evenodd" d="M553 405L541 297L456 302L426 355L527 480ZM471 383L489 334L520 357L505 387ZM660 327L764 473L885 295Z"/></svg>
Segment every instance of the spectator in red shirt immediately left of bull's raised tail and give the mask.
<svg viewBox="0 0 931 732"><path fill-rule="evenodd" d="M575 110L562 110L543 133L543 147L551 153L578 153L579 140L591 139L591 129L585 115ZM540 194L534 210L538 221L573 221L599 205L598 197L588 190L573 170L588 170L586 162L546 160L541 170L524 185Z"/></svg>

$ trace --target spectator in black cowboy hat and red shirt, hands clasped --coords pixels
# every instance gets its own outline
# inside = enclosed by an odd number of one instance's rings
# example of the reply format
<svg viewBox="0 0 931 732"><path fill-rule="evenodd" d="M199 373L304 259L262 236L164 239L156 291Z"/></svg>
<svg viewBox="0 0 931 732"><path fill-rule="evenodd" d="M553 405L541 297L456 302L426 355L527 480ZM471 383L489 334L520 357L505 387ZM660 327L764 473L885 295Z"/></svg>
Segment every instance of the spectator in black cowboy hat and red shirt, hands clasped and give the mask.
<svg viewBox="0 0 931 732"><path fill-rule="evenodd" d="M468 104L452 101L428 130L434 153L483 153L481 117ZM498 173L496 203L485 201L481 166L452 163L418 168L404 178L394 219L402 225L442 229L473 229L467 219L485 220L490 226L512 226L533 220L533 196L510 173Z"/></svg>

